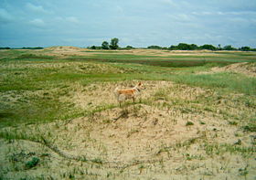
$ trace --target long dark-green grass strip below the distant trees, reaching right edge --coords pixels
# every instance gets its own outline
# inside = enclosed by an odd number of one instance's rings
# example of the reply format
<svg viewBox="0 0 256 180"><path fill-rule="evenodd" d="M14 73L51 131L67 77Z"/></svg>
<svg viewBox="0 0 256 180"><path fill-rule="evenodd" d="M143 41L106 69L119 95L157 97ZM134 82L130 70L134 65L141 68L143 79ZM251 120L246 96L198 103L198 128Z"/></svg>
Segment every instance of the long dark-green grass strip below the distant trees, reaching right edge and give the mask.
<svg viewBox="0 0 256 180"><path fill-rule="evenodd" d="M75 56L68 59L83 60L92 62L108 62L108 63L135 63L142 65L161 66L161 67L196 67L196 66L225 66L235 62L255 62L255 56L243 56L240 55L212 55L200 56L200 55L172 55L172 56L145 56L145 55L133 55L133 54L106 54L99 53L91 56Z"/></svg>

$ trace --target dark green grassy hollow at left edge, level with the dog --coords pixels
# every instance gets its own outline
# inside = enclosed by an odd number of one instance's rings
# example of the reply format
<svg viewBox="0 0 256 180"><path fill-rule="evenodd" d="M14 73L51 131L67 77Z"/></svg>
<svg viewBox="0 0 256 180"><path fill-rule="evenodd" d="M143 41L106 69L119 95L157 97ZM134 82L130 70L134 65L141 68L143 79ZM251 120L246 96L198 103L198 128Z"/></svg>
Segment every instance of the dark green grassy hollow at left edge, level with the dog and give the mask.
<svg viewBox="0 0 256 180"><path fill-rule="evenodd" d="M59 101L59 96L29 96L14 103L0 103L0 127L19 123L52 122L72 110L71 104Z"/></svg>

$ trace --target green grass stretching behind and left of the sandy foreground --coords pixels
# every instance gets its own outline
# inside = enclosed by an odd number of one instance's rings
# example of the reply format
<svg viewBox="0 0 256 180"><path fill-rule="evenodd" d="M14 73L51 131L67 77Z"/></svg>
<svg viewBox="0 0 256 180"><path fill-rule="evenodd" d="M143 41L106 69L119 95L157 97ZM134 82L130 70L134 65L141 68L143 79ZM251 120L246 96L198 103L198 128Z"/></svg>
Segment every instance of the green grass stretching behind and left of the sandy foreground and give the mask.
<svg viewBox="0 0 256 180"><path fill-rule="evenodd" d="M69 97L73 83L87 86L104 81L171 80L189 86L240 92L247 95L256 94L255 78L228 72L196 74L195 72L208 70L212 66L223 66L227 62L219 60L211 62L201 58L195 60L197 56L193 55L187 57L187 60L175 61L155 59L159 58L155 56L104 53L95 56L104 60L90 61L87 58L79 60L80 57L56 59L37 56L29 54L27 50L10 50L2 54L17 57L0 60L0 93L9 94L7 96L11 96L16 101L7 101L8 99L2 96L0 127L19 123L52 122L79 116L81 114L79 109L74 108L70 103L60 101L61 97ZM178 57L178 55L175 56ZM193 59L189 60L189 58ZM240 58L234 58L234 61L239 60ZM38 95L35 93L38 90L46 94ZM156 99L165 98L164 92L158 93L160 94L155 94ZM248 106L253 104L248 101Z"/></svg>

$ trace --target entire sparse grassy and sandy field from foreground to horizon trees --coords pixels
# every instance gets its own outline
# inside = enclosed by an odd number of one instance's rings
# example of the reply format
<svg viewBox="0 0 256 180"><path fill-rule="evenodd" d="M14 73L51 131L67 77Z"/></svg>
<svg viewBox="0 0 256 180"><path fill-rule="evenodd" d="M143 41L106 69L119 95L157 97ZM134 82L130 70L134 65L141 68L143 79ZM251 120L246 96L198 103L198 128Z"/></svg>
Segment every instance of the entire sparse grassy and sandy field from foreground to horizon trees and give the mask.
<svg viewBox="0 0 256 180"><path fill-rule="evenodd" d="M256 178L255 52L0 55L0 179Z"/></svg>

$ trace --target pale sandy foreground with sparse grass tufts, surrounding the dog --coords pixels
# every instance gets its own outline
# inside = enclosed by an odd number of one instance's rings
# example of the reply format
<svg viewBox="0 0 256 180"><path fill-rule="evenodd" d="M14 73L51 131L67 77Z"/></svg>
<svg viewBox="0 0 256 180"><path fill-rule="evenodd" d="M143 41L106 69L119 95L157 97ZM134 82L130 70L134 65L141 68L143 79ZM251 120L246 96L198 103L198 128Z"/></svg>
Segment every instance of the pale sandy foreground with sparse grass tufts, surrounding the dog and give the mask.
<svg viewBox="0 0 256 180"><path fill-rule="evenodd" d="M239 114L253 114L238 101L242 95L220 99L213 90L143 81L146 90L136 103L119 107L112 90L135 83L77 84L71 98L62 101L72 101L90 113L66 122L1 130L30 137L29 141L1 140L1 175L6 179L254 179L255 156L240 150L255 144L254 134L243 132L239 125L244 122L236 121ZM33 157L40 161L28 168Z"/></svg>

